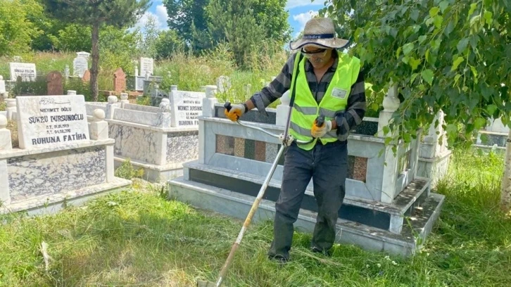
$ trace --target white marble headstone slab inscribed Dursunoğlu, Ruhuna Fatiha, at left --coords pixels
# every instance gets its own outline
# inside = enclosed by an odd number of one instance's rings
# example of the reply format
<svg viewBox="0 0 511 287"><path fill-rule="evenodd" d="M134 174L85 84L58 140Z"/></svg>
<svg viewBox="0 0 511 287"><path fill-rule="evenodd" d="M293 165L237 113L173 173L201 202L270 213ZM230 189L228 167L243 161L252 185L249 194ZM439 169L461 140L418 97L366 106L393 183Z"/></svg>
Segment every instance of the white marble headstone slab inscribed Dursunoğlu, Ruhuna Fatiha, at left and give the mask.
<svg viewBox="0 0 511 287"><path fill-rule="evenodd" d="M16 101L20 148L89 140L84 96L18 96Z"/></svg>

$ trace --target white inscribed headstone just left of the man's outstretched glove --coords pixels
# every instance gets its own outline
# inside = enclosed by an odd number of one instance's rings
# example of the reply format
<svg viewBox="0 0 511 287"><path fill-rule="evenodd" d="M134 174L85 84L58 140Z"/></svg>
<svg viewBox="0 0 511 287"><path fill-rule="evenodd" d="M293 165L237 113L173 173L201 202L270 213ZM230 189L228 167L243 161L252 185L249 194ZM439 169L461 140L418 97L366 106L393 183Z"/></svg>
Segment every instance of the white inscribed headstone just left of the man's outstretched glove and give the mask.
<svg viewBox="0 0 511 287"><path fill-rule="evenodd" d="M172 127L198 127L205 96L198 91L170 91Z"/></svg>

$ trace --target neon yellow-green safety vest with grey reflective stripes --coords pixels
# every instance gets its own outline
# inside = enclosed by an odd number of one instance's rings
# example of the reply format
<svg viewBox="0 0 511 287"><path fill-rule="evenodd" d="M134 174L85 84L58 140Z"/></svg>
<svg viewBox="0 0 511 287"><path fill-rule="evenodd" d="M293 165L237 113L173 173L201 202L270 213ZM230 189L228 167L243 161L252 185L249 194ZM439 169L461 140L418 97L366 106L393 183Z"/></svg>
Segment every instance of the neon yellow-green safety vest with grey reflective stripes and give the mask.
<svg viewBox="0 0 511 287"><path fill-rule="evenodd" d="M335 51L332 51L334 53ZM289 134L295 139L309 141L312 139L310 129L313 127L314 120L318 115L324 115L324 120L334 120L336 113L346 110L348 96L351 92L351 86L355 84L360 71L360 60L355 57L348 56L345 53L336 51L339 56L337 69L332 77L332 81L328 85L320 104L318 105L312 92L310 91L307 77L305 76L305 60L303 58L298 63L299 52L296 53L294 72L291 79L291 89L296 81L296 95L291 112L291 120L289 122ZM299 72L298 72L299 70ZM298 77L296 74L298 72ZM290 91L292 94L293 91ZM332 130L322 136L320 141L322 144L337 141L336 131ZM310 150L315 146L316 141L310 144L298 144L305 150Z"/></svg>

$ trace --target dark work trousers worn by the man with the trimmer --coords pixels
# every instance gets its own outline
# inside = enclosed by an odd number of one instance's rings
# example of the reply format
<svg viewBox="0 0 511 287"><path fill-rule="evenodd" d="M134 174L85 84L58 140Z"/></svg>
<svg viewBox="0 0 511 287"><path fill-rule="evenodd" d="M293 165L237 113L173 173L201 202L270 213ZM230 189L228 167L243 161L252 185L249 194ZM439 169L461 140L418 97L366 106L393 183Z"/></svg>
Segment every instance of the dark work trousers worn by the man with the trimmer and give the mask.
<svg viewBox="0 0 511 287"><path fill-rule="evenodd" d="M274 237L268 253L270 257L289 259L294 222L298 218L311 177L318 214L310 247L321 251L332 248L338 212L345 195L347 147L346 141L325 145L318 141L310 151L299 148L296 143L286 149L282 187L275 203Z"/></svg>

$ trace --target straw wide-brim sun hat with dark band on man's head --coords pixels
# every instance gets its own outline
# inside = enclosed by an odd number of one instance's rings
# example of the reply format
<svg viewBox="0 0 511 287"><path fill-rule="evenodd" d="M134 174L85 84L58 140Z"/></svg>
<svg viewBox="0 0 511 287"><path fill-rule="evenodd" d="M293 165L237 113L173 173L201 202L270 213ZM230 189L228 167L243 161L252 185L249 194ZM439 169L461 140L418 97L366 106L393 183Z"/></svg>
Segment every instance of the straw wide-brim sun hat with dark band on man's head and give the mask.
<svg viewBox="0 0 511 287"><path fill-rule="evenodd" d="M349 40L335 36L334 21L330 18L312 18L308 20L303 29L303 37L290 42L291 50L300 49L305 45L316 45L324 48L340 49L348 44Z"/></svg>

